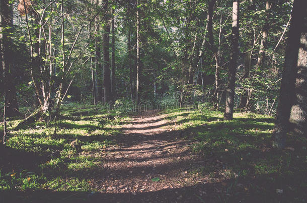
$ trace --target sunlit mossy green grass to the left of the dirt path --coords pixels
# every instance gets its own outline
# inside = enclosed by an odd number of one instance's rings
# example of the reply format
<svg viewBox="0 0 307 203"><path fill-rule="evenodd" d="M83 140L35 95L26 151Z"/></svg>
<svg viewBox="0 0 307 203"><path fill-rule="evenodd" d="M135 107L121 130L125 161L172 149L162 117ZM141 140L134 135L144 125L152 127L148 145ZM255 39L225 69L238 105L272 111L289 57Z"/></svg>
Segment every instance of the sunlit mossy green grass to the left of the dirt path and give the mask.
<svg viewBox="0 0 307 203"><path fill-rule="evenodd" d="M0 159L0 190L93 191L93 173L103 170L101 156L120 132L113 126L128 117L78 104L61 112L56 122L38 121L19 130L13 129L20 120L8 122L10 155Z"/></svg>

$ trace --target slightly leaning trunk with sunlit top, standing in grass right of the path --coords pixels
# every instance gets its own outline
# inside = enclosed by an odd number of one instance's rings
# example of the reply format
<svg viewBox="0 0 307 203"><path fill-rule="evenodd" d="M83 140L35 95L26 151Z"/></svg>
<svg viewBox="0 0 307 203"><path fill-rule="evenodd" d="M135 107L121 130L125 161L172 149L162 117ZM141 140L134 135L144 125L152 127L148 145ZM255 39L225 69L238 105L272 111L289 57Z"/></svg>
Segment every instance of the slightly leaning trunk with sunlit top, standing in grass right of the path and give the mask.
<svg viewBox="0 0 307 203"><path fill-rule="evenodd" d="M231 59L228 69L228 83L226 89L226 104L225 104L225 120L233 119L234 100L235 100L235 85L236 85L236 70L238 59L238 40L239 40L239 0L233 2L233 28L232 28L232 45Z"/></svg>

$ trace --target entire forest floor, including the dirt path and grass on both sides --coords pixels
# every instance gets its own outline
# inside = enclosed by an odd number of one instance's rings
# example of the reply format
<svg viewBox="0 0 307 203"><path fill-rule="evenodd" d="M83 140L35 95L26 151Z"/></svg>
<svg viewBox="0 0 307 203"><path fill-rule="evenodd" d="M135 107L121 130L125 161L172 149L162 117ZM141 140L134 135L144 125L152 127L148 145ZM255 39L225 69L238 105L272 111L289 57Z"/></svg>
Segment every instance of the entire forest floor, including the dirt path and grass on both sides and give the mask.
<svg viewBox="0 0 307 203"><path fill-rule="evenodd" d="M127 114L66 106L11 132L0 159L8 202L305 202L306 138L271 147L274 119L175 109ZM2 201L0 199L0 202Z"/></svg>

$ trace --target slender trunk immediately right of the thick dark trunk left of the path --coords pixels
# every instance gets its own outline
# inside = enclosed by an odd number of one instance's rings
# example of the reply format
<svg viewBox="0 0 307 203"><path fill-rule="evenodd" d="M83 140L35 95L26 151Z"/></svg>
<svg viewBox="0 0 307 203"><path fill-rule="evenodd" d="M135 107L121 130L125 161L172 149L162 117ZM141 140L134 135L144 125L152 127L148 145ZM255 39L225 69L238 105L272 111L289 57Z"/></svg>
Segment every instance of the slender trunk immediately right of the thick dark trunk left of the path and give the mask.
<svg viewBox="0 0 307 203"><path fill-rule="evenodd" d="M111 92L112 92L112 95L113 95L113 99L116 98L116 90L115 90L115 83L116 83L116 80L115 80L115 25L114 25L114 9L112 9L112 58L111 58L111 61L112 61L112 77L111 77Z"/></svg>

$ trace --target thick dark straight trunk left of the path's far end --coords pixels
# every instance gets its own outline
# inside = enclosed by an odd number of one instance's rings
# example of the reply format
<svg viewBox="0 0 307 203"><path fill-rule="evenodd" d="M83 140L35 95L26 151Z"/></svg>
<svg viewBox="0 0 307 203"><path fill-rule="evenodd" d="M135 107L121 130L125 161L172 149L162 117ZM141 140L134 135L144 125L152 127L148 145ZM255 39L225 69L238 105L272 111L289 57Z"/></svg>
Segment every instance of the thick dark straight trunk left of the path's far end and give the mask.
<svg viewBox="0 0 307 203"><path fill-rule="evenodd" d="M110 17L108 11L108 0L105 0L103 11L105 14L105 26L104 26L104 34L102 37L103 41L103 89L104 89L104 104L112 101L111 94L111 77L110 77L110 55L109 55L109 47L110 47Z"/></svg>

